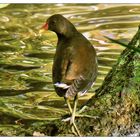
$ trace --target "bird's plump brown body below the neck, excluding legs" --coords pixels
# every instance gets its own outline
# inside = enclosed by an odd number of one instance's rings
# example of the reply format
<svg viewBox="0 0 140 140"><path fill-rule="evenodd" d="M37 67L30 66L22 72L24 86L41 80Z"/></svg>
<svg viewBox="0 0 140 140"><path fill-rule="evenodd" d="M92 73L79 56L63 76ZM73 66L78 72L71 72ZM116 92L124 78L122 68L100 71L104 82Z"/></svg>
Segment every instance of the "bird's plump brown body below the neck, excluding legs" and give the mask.
<svg viewBox="0 0 140 140"><path fill-rule="evenodd" d="M53 83L59 96L65 96L66 92L72 95L74 92L86 92L96 75L95 49L81 33L77 32L70 39L58 41L53 64ZM65 86L56 86L56 83Z"/></svg>

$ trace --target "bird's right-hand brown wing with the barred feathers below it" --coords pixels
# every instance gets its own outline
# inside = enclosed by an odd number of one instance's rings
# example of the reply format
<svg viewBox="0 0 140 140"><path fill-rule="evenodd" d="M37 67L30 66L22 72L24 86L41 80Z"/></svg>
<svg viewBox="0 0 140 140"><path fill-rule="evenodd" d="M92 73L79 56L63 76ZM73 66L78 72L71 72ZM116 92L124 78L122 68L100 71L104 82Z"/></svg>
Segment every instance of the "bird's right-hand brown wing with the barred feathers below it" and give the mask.
<svg viewBox="0 0 140 140"><path fill-rule="evenodd" d="M67 66L66 81L71 81L65 97L75 96L78 92L85 92L91 87L96 78L96 54L94 49L80 47ZM90 53L88 53L90 52Z"/></svg>

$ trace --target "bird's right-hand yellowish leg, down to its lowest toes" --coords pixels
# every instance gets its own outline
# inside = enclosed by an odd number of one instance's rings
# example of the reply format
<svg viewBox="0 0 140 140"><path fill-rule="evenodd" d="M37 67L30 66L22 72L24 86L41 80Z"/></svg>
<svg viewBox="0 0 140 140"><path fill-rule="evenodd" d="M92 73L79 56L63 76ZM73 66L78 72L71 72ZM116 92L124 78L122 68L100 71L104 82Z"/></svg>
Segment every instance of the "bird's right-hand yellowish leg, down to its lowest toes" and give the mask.
<svg viewBox="0 0 140 140"><path fill-rule="evenodd" d="M76 96L74 98L74 108L72 110L72 116L71 116L70 124L72 125L72 131L73 131L73 133L74 134L77 133L78 136L81 136L81 134L80 134L80 132L79 132L79 130L78 130L75 122L74 122L75 121L75 113L76 113L77 103L78 103L78 94L76 94ZM76 130L76 132L75 132L74 129Z"/></svg>

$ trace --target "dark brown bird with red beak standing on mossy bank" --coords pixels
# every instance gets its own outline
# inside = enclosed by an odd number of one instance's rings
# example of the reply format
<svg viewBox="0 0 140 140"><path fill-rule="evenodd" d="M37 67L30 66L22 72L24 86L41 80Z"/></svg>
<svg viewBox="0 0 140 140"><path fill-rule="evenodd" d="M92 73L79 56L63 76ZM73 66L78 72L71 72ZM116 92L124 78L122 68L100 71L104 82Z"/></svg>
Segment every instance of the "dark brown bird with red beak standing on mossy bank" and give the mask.
<svg viewBox="0 0 140 140"><path fill-rule="evenodd" d="M42 28L57 35L52 81L56 93L64 97L67 103L73 132L81 136L75 124L75 114L78 97L87 93L97 77L96 50L90 41L61 14L50 16ZM70 104L71 99L74 101L73 108Z"/></svg>

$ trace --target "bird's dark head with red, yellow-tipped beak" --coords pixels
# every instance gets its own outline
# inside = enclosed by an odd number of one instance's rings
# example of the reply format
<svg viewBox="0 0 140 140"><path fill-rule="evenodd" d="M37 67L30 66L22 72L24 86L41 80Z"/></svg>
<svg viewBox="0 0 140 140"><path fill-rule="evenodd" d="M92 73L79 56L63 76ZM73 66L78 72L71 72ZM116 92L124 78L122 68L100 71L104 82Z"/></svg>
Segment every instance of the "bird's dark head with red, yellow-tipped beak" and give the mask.
<svg viewBox="0 0 140 140"><path fill-rule="evenodd" d="M63 36L71 36L76 30L73 24L60 14L49 17L42 28Z"/></svg>

